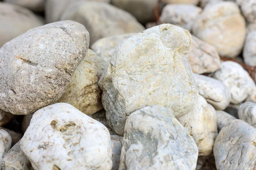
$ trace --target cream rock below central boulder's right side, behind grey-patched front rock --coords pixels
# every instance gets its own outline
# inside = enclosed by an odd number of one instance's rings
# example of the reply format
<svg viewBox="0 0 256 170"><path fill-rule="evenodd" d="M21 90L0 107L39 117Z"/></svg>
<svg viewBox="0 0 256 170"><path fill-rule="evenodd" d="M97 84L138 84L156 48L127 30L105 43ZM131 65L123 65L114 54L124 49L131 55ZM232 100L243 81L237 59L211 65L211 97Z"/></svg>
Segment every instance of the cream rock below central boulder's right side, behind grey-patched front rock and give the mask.
<svg viewBox="0 0 256 170"><path fill-rule="evenodd" d="M211 105L207 105L204 97L199 96L194 110L177 117L180 124L195 139L199 156L212 154L214 140L218 134L216 112L211 107Z"/></svg>

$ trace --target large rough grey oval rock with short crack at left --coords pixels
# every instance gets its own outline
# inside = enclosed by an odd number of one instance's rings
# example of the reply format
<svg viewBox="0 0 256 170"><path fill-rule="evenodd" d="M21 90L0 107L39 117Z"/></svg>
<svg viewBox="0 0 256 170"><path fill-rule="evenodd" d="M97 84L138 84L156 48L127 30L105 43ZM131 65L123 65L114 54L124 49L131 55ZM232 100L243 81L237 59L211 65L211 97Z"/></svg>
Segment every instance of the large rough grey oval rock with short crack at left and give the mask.
<svg viewBox="0 0 256 170"><path fill-rule="evenodd" d="M74 21L31 29L3 45L0 108L30 114L58 100L88 45L88 31Z"/></svg>

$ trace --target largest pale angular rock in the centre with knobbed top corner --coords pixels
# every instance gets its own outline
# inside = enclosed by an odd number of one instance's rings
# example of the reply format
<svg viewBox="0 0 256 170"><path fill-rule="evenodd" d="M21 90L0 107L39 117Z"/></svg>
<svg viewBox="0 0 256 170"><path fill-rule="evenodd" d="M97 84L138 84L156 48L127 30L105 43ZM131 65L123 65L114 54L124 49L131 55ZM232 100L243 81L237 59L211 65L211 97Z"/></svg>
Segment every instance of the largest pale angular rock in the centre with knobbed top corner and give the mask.
<svg viewBox="0 0 256 170"><path fill-rule="evenodd" d="M174 116L195 106L198 89L187 59L190 40L187 30L162 24L116 48L99 86L108 124L118 135L124 135L127 117L145 106L162 105Z"/></svg>

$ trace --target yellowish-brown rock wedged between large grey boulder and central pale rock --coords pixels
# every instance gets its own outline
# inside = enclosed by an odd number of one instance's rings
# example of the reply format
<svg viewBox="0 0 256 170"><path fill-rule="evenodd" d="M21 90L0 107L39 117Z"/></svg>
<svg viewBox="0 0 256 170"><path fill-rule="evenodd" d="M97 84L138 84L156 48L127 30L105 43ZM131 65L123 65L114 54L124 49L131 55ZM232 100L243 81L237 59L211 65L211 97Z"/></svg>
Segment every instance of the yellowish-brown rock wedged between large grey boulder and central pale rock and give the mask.
<svg viewBox="0 0 256 170"><path fill-rule="evenodd" d="M57 102L69 103L87 115L102 110L102 91L98 81L106 65L105 60L89 49L77 66L67 90Z"/></svg>

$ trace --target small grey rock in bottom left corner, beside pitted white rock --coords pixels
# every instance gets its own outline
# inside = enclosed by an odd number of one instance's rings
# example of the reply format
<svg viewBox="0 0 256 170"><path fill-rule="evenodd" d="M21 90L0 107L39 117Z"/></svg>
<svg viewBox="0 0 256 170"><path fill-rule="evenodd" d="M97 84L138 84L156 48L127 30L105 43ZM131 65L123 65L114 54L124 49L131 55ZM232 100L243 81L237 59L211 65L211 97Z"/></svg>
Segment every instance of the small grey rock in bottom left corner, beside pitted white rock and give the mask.
<svg viewBox="0 0 256 170"><path fill-rule="evenodd" d="M4 156L2 170L34 170L29 159L20 150L20 141Z"/></svg>

